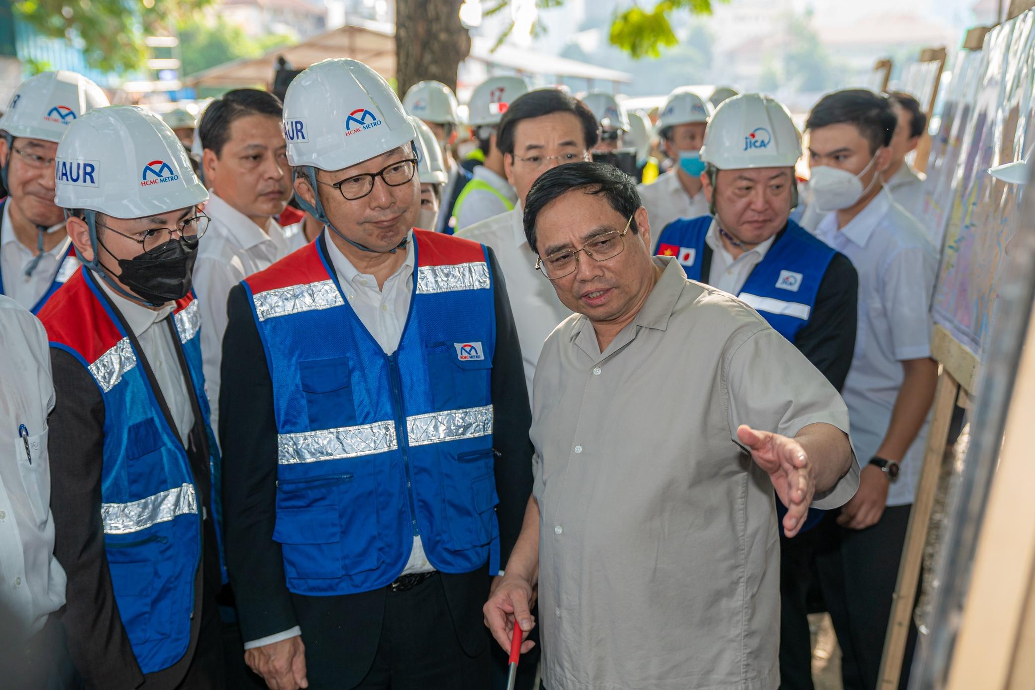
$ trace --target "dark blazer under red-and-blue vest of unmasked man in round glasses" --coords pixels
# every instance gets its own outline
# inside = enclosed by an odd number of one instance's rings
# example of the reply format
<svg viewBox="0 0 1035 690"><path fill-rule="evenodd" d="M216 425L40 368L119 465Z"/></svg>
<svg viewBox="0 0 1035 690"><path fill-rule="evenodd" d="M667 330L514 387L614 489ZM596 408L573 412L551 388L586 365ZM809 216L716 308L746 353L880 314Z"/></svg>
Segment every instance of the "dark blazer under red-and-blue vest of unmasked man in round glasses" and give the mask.
<svg viewBox="0 0 1035 690"><path fill-rule="evenodd" d="M489 264L496 305L493 447L500 497L501 563L506 563L532 491L531 413L518 331L503 273L492 249ZM374 660L387 588L332 597L288 592L280 545L273 541L277 459L273 386L252 307L240 286L230 292L228 311L219 439L227 565L241 633L247 642L300 626L310 685L349 688L362 680ZM320 334L314 333L314 337ZM487 574L485 567L441 575L453 628L472 656L489 643L481 613L489 595Z"/></svg>

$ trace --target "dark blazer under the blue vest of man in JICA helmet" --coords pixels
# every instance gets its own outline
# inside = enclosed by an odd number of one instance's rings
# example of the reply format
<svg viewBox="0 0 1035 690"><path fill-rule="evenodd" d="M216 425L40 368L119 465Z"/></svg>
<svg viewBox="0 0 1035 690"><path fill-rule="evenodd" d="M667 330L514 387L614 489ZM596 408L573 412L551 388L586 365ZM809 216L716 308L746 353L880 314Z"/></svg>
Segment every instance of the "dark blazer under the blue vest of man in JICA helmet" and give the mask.
<svg viewBox="0 0 1035 690"><path fill-rule="evenodd" d="M773 244L779 242L785 232L786 229L776 234ZM708 282L712 253L706 243L701 256L702 282ZM855 354L858 311L859 275L849 258L838 251L823 274L808 323L794 339L794 347L838 391L845 386Z"/></svg>

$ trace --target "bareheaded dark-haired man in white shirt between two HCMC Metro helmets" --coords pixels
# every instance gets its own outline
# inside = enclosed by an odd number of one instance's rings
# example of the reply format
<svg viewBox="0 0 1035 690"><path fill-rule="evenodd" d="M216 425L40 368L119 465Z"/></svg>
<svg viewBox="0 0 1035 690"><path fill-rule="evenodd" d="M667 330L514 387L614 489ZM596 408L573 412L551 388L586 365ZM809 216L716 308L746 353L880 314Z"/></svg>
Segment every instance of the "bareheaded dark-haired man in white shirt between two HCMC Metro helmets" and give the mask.
<svg viewBox="0 0 1035 690"><path fill-rule="evenodd" d="M292 193L283 112L280 99L268 91L236 89L205 109L199 127L211 192L205 212L212 221L198 252L194 281L205 324L201 344L212 428L218 428L230 289L289 253L275 218Z"/></svg>

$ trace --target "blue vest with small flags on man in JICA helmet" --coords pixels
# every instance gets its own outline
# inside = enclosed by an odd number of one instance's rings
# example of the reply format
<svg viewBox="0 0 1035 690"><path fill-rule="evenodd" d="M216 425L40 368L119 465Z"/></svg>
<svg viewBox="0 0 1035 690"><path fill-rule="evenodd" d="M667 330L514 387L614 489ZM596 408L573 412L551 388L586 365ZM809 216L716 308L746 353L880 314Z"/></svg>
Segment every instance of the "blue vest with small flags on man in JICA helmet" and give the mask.
<svg viewBox="0 0 1035 690"><path fill-rule="evenodd" d="M676 257L691 280L702 278L701 259L712 216L681 218L669 223L658 239L659 254ZM737 297L755 308L780 335L791 342L812 314L820 283L836 251L788 220L787 231L773 242L765 258L744 281ZM782 521L787 508L777 500L776 512ZM808 509L801 532L816 527L826 511ZM782 532L782 526L780 527ZM800 534L800 533L799 533Z"/></svg>

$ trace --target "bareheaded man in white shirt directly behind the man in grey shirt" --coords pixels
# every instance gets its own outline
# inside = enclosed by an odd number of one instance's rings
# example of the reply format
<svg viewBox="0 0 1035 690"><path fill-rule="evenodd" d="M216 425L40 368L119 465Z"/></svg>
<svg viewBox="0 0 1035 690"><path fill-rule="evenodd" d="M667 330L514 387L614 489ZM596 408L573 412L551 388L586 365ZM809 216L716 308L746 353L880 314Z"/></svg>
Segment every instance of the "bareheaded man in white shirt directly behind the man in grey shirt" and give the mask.
<svg viewBox="0 0 1035 690"><path fill-rule="evenodd" d="M542 342L571 311L535 270L535 252L522 227L525 197L548 170L588 160L596 141L592 111L560 89L537 89L518 98L500 121L497 139L507 181L518 190L518 207L460 233L491 246L507 276L530 395Z"/></svg>

